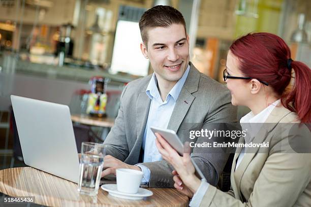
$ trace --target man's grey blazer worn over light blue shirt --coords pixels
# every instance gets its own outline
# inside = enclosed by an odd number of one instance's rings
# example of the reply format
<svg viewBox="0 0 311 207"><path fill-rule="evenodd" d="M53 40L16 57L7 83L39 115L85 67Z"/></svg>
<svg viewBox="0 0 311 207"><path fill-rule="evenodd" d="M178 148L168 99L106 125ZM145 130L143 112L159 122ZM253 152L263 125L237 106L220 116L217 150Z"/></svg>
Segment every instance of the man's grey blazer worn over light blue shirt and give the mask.
<svg viewBox="0 0 311 207"><path fill-rule="evenodd" d="M177 132L181 142L189 141L190 129L208 128L210 123L236 122L236 107L231 105L229 90L219 82L200 73L190 62L190 72L181 89L171 115L168 129ZM130 82L121 94L121 105L114 126L104 144L107 154L137 164L141 155L143 135L148 118L150 98L146 88L151 75ZM212 126L214 129L215 126ZM204 142L195 139L195 142ZM227 162L228 153L193 148L195 159L207 181L216 185ZM140 160L141 161L141 160ZM142 163L150 169L149 187L173 187L172 166L165 160Z"/></svg>

